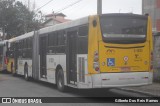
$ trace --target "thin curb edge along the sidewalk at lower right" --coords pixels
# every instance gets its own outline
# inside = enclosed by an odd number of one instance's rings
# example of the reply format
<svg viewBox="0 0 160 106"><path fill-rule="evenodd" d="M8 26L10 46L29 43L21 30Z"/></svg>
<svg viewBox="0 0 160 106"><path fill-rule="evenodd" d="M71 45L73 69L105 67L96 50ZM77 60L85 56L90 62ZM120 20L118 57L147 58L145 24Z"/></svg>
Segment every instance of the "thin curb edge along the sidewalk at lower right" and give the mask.
<svg viewBox="0 0 160 106"><path fill-rule="evenodd" d="M151 97L160 97L160 94L153 94L151 92L138 91L138 90L131 89L131 88L120 88L120 89L124 90L124 91L131 91L131 92L135 92L135 93L141 93L143 95L147 95L147 96L151 96Z"/></svg>

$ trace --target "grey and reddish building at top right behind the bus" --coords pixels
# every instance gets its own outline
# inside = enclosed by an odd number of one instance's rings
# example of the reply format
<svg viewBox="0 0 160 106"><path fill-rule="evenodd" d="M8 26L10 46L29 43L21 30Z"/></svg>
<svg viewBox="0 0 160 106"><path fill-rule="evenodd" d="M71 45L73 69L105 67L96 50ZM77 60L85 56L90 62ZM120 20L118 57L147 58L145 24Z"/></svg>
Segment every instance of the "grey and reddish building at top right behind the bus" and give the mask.
<svg viewBox="0 0 160 106"><path fill-rule="evenodd" d="M142 13L151 16L153 31L160 31L160 0L142 0Z"/></svg>

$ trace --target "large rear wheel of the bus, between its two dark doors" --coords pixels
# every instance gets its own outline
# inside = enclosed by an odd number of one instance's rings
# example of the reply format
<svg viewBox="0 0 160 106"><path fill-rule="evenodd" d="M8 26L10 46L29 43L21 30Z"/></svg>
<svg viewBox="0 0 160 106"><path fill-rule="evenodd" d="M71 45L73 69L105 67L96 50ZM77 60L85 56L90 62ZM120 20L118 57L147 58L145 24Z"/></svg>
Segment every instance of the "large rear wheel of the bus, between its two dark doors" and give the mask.
<svg viewBox="0 0 160 106"><path fill-rule="evenodd" d="M64 74L63 70L59 69L56 76L56 84L59 91L64 92L65 86L64 86Z"/></svg>

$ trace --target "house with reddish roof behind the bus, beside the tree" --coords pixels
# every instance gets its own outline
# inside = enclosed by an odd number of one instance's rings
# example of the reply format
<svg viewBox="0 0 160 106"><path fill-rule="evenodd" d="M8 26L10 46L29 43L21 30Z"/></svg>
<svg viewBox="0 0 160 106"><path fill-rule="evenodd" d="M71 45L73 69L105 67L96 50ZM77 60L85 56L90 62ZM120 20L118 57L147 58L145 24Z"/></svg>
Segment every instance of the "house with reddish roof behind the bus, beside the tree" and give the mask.
<svg viewBox="0 0 160 106"><path fill-rule="evenodd" d="M71 21L69 19L65 19L65 17L66 15L64 15L63 13L52 13L52 14L45 15L46 21L43 23L43 27L48 27L48 26L64 23L67 21Z"/></svg>

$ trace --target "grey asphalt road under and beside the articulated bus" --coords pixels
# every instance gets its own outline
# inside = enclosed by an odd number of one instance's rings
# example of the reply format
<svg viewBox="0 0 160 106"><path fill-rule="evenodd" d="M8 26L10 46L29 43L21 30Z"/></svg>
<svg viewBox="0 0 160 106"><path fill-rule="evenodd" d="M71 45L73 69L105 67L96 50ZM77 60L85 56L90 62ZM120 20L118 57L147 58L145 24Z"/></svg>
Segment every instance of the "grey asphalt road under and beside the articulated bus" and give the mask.
<svg viewBox="0 0 160 106"><path fill-rule="evenodd" d="M0 97L147 97L147 95L135 92L123 91L119 89L101 89L101 90L77 90L70 88L69 92L61 93L53 84L25 81L22 77L13 77L9 74L0 74ZM24 106L32 106L33 104L23 104ZM53 104L47 104L47 106ZM106 104L86 103L86 104L57 104L57 105L77 105L77 106L106 106ZM107 104L109 106L128 104ZM132 104L130 104L132 105ZM143 104L140 104L143 105ZM145 104L150 106L151 104ZM156 104L157 105L157 104ZM0 106L8 106L8 104L0 104ZM10 106L21 106L21 104L12 104ZM34 106L46 106L45 104L34 104Z"/></svg>

